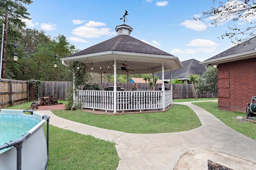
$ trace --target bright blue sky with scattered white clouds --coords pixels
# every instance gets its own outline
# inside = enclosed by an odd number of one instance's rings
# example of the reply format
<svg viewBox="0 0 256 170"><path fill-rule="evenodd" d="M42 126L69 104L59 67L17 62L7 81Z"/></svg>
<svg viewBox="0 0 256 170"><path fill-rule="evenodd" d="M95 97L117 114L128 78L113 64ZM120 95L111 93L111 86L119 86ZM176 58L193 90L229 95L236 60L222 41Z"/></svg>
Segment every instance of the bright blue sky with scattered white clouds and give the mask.
<svg viewBox="0 0 256 170"><path fill-rule="evenodd" d="M115 37L127 10L132 37L180 61L204 61L232 47L230 39L218 38L228 23L215 27L208 18L193 20L211 7L212 0L34 0L26 5L31 17L26 25L52 38L64 35L83 50Z"/></svg>

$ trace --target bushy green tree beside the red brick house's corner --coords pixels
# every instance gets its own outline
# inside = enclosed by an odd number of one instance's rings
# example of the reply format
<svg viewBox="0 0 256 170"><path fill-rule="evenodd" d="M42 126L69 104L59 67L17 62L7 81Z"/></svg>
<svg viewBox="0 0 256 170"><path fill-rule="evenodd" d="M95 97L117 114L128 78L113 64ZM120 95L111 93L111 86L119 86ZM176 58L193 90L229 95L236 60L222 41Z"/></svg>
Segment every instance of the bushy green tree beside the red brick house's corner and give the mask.
<svg viewBox="0 0 256 170"><path fill-rule="evenodd" d="M195 88L198 92L203 94L211 92L218 98L218 69L213 66L208 66L206 71L198 79Z"/></svg>

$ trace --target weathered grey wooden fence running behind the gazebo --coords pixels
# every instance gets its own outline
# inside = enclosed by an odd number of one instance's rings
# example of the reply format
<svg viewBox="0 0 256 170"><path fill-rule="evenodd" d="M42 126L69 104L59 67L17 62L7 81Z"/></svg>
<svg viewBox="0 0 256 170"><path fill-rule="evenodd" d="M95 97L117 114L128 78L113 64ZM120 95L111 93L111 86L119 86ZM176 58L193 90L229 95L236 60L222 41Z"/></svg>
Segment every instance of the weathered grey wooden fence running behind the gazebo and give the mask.
<svg viewBox="0 0 256 170"><path fill-rule="evenodd" d="M101 87L100 83L98 84ZM71 85L71 82L43 82L43 86L39 86L39 94L42 96L53 95L54 99L58 100L66 100L67 98L67 89ZM132 88L146 89L148 88L148 83L117 83L118 86L124 89L132 90ZM168 90L171 89L171 84L164 84L165 88ZM108 88L108 86L114 86L113 82L103 82L102 89ZM81 90L84 86L81 86ZM128 88L127 88L128 87ZM162 84L156 84L155 90L159 90L162 88ZM186 99L186 98L194 98L192 84L172 84L172 95L173 99ZM215 96L208 92L206 94L201 94L197 92L198 98L215 98Z"/></svg>

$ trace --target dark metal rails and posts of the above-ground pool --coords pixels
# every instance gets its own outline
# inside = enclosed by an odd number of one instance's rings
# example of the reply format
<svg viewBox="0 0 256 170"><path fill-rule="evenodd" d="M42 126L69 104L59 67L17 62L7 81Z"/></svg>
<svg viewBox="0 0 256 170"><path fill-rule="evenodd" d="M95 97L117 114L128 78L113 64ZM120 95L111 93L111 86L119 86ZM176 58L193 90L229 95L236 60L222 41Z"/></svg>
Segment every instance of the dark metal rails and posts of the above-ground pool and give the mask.
<svg viewBox="0 0 256 170"><path fill-rule="evenodd" d="M1 111L1 109L0 109ZM25 111L30 112L31 115L33 115L34 110L23 110L23 113ZM46 120L47 122L47 132L46 132L46 145L47 145L47 162L46 162L46 166L45 168L47 169L47 164L48 164L48 158L49 158L49 119L50 116L47 115L43 115L42 116L42 120ZM16 147L17 150L17 170L21 170L21 150L22 150L22 144L23 141L25 141L28 137L29 137L30 133L25 133L24 135L22 135L20 138L15 139L14 141L10 141L8 143L5 143L4 145L0 146L0 150L5 149L5 148L9 148L9 147Z"/></svg>

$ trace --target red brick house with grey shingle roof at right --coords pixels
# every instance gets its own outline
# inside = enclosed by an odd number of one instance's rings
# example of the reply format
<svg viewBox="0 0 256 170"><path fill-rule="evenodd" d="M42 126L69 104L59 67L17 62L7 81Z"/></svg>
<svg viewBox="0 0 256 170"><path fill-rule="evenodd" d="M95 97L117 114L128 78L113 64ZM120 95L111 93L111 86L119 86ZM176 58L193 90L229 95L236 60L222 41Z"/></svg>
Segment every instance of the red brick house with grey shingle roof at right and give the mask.
<svg viewBox="0 0 256 170"><path fill-rule="evenodd" d="M256 96L256 37L244 41L201 64L218 67L218 107L246 111Z"/></svg>

